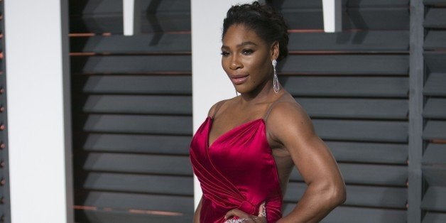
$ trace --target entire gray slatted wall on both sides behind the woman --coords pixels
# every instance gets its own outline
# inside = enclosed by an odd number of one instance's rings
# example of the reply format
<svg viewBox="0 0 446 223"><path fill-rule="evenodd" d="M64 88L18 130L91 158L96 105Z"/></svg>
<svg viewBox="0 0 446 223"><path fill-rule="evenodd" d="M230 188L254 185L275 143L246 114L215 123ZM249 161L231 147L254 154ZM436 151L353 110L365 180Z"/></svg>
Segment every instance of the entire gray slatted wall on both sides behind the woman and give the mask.
<svg viewBox="0 0 446 223"><path fill-rule="evenodd" d="M324 222L445 222L446 1L343 1L341 33L322 32L320 1L273 4L280 80L347 183ZM77 222L192 217L190 3L141 5L143 34L124 37L121 0L70 2ZM304 190L295 171L285 213Z"/></svg>

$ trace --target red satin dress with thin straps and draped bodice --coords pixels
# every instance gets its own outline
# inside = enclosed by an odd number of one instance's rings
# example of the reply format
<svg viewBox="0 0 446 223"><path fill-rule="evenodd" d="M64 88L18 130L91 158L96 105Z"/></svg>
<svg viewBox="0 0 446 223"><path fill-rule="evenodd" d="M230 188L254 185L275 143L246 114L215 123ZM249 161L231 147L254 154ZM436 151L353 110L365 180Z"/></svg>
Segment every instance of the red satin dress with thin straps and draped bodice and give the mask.
<svg viewBox="0 0 446 223"><path fill-rule="evenodd" d="M276 222L282 216L282 193L265 121L236 126L208 145L211 127L207 117L190 145L203 192L200 222L225 222L224 215L234 208L257 216L263 201L268 223Z"/></svg>

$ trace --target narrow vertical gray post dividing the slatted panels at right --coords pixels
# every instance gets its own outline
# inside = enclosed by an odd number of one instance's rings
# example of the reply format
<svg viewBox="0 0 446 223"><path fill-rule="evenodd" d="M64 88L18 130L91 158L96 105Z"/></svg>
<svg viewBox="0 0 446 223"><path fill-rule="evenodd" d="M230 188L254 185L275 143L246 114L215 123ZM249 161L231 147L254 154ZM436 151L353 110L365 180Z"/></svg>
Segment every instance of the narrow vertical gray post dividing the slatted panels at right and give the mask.
<svg viewBox="0 0 446 223"><path fill-rule="evenodd" d="M409 69L409 139L408 139L408 219L421 222L423 192L421 159L423 156L423 42L424 5L410 1L410 69Z"/></svg>

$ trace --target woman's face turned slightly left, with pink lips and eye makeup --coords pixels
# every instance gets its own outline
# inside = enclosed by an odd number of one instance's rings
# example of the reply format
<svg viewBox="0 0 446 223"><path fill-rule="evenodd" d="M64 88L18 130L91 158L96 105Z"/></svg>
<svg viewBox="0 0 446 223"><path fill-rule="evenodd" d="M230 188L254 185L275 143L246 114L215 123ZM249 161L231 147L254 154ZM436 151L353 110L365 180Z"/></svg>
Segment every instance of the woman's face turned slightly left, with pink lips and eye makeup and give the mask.
<svg viewBox="0 0 446 223"><path fill-rule="evenodd" d="M223 36L222 67L237 92L253 92L272 82L271 61L277 58L275 51L278 52L277 43L267 44L246 26L229 26Z"/></svg>

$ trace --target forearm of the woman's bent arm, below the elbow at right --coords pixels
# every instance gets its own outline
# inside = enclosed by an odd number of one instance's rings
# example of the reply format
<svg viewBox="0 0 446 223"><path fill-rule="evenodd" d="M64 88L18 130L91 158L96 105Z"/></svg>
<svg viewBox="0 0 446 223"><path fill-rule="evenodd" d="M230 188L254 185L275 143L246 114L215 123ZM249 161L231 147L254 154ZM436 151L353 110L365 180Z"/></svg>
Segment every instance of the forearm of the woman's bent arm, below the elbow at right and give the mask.
<svg viewBox="0 0 446 223"><path fill-rule="evenodd" d="M346 198L344 185L317 187L309 185L304 195L290 214L278 223L320 222Z"/></svg>

